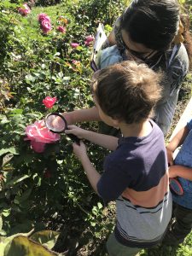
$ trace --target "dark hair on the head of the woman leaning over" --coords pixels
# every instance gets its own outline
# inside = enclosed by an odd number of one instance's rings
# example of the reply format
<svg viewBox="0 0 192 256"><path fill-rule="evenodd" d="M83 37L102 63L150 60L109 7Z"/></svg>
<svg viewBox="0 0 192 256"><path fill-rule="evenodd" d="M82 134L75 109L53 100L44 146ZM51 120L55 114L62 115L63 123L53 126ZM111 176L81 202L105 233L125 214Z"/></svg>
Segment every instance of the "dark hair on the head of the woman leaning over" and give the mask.
<svg viewBox="0 0 192 256"><path fill-rule="evenodd" d="M149 49L166 50L177 34L179 18L176 0L134 0L120 18L120 29Z"/></svg>

